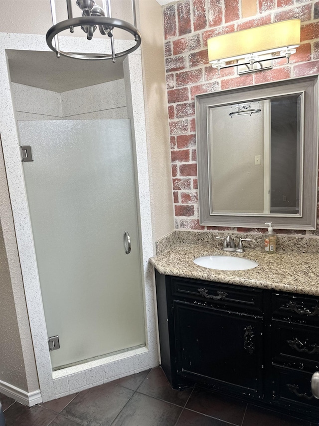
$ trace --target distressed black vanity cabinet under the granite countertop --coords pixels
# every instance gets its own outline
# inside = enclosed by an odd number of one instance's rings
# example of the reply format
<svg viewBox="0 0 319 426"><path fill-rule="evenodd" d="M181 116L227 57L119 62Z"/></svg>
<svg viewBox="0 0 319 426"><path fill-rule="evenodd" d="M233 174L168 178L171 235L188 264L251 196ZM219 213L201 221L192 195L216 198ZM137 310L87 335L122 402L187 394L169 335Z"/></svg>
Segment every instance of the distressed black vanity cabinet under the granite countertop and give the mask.
<svg viewBox="0 0 319 426"><path fill-rule="evenodd" d="M161 366L194 383L319 420L319 299L156 271Z"/></svg>

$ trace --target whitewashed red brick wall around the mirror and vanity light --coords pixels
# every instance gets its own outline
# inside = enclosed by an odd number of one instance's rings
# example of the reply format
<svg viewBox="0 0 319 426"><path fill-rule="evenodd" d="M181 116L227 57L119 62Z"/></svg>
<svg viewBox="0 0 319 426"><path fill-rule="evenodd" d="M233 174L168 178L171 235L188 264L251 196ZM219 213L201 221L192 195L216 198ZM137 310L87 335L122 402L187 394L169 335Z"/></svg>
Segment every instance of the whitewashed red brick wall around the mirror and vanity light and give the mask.
<svg viewBox="0 0 319 426"><path fill-rule="evenodd" d="M271 70L242 76L236 68L218 76L208 64L207 38L291 18L302 29L290 64L278 59ZM194 96L319 73L319 1L181 0L163 7L163 21L176 228L220 229L199 225Z"/></svg>

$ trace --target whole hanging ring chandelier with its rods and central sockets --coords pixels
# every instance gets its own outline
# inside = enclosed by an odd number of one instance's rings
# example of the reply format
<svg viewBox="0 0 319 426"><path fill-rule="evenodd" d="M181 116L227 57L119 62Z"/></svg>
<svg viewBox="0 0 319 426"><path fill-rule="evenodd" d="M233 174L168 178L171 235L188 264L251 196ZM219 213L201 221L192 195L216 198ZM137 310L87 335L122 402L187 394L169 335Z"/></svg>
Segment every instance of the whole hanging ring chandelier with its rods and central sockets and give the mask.
<svg viewBox="0 0 319 426"><path fill-rule="evenodd" d="M96 4L94 0L76 0L76 5L80 8L79 12L81 13L81 16L73 17L72 0L66 0L68 19L57 23L55 0L50 0L53 26L51 26L46 33L46 42L50 49L56 53L57 57L63 55L76 59L112 59L112 61L115 62L116 58L125 56L140 46L141 34L136 28L135 1L132 0L134 25L124 20L111 17L110 0L101 0L101 2L102 7ZM88 40L92 39L94 31L97 27L99 27L100 33L109 37L112 53L75 53L60 50L58 34L66 29L73 33L74 28L77 26L80 26L82 31L87 34ZM120 28L131 33L133 35L135 45L122 52L116 52L113 37L114 28ZM52 44L53 40L54 45Z"/></svg>

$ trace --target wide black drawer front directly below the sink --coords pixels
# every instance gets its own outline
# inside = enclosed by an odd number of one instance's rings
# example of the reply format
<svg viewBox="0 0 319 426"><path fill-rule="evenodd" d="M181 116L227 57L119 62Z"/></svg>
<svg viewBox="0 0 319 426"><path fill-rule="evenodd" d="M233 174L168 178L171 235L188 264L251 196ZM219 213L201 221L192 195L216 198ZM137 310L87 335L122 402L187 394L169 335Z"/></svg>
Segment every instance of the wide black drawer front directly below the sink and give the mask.
<svg viewBox="0 0 319 426"><path fill-rule="evenodd" d="M237 307L248 311L262 311L262 290L172 277L173 298L198 301L201 305Z"/></svg>

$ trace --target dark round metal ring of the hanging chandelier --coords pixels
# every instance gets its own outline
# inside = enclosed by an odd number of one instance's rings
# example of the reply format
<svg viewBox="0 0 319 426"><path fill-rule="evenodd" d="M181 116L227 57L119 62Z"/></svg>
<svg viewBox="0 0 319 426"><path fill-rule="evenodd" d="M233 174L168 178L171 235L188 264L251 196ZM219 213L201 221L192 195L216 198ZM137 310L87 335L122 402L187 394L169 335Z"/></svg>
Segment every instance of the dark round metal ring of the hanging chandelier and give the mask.
<svg viewBox="0 0 319 426"><path fill-rule="evenodd" d="M124 50L123 52L119 53L74 53L74 52L64 52L62 50L57 50L53 44L52 40L53 38L58 35L61 31L64 31L66 29L70 29L70 27L76 27L76 26L94 26L94 25L101 25L103 27L109 28L111 31L114 27L123 29L124 31L130 32L134 36L134 40L136 41L135 46ZM113 59L118 58L121 56L126 56L129 53L134 52L136 49L139 48L141 44L141 34L139 30L132 25L129 22L126 22L122 19L112 18L112 17L106 17L106 16L82 16L82 17L76 17L71 19L66 19L61 22L56 23L55 25L51 26L51 28L46 33L46 42L51 50L56 52L57 54L60 53L63 56L72 57L75 59Z"/></svg>

